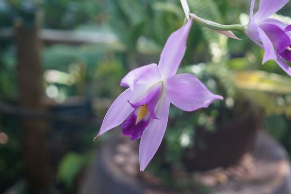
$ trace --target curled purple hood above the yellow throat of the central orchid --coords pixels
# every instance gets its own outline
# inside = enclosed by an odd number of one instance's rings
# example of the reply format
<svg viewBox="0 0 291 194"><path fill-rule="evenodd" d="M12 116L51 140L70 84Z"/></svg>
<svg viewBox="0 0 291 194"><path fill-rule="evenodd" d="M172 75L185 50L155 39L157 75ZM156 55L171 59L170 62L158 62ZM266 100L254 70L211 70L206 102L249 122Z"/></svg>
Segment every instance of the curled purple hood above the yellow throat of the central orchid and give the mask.
<svg viewBox="0 0 291 194"><path fill-rule="evenodd" d="M163 83L161 81L151 86L146 92L145 96L140 101L136 103L130 103L130 102L129 103L134 109L137 109L139 106L147 104L150 116L154 119L158 119L158 117L155 115L155 108L162 96L162 92L163 92Z"/></svg>

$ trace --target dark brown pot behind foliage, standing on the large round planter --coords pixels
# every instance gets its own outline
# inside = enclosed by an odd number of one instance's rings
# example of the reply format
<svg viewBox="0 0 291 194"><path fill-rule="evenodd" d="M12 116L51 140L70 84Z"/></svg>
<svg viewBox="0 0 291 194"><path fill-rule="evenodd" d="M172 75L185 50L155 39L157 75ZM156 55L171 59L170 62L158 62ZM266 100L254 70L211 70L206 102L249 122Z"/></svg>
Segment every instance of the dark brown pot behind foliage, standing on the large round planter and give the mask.
<svg viewBox="0 0 291 194"><path fill-rule="evenodd" d="M196 144L183 157L186 168L209 170L239 162L253 146L260 123L261 116L246 110L239 117L218 123L215 132L196 129Z"/></svg>

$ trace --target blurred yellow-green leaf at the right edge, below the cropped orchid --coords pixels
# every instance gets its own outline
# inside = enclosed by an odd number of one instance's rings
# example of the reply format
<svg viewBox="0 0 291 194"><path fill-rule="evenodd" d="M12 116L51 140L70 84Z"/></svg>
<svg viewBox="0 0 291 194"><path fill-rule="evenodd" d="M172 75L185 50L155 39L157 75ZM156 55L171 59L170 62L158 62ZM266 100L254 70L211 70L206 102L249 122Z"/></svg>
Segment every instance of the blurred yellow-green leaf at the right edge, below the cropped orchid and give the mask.
<svg viewBox="0 0 291 194"><path fill-rule="evenodd" d="M291 78L265 71L234 73L235 84L250 101L266 114L285 114L291 117L291 102L284 95L291 94Z"/></svg>

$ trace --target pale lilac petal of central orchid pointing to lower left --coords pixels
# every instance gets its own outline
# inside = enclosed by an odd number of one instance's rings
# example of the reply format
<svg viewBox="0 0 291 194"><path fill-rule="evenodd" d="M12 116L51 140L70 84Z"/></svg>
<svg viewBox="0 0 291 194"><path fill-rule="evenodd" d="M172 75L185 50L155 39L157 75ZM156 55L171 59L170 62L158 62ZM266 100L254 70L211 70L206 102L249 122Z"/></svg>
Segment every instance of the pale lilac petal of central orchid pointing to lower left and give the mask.
<svg viewBox="0 0 291 194"><path fill-rule="evenodd" d="M132 108L128 103L128 100L137 101L141 99L146 94L146 91L150 86L151 84L138 83L135 85L134 90L128 88L121 95L119 95L107 111L102 122L101 129L98 135L94 138L94 141L100 135L120 125L134 110L134 108Z"/></svg>

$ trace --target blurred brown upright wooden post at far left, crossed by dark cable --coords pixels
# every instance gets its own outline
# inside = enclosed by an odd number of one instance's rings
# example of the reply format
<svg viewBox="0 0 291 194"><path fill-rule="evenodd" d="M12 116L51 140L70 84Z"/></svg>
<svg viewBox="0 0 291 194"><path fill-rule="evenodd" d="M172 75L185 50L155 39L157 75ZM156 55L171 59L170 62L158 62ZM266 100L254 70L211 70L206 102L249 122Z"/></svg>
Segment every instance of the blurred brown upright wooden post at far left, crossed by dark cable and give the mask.
<svg viewBox="0 0 291 194"><path fill-rule="evenodd" d="M43 110L43 79L41 73L40 41L37 27L16 26L19 104ZM29 184L29 194L46 189L49 181L49 162L46 126L43 120L21 118L22 152Z"/></svg>

